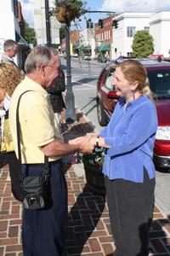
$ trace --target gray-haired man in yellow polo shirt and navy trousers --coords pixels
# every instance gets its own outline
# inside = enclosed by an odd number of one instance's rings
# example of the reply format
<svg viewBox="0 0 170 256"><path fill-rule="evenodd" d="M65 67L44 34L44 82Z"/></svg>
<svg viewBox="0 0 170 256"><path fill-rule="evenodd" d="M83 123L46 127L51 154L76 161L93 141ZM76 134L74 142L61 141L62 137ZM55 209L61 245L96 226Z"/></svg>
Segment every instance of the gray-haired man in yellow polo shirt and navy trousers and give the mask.
<svg viewBox="0 0 170 256"><path fill-rule="evenodd" d="M74 152L88 153L90 143L63 143L47 89L59 76L59 55L47 47L37 46L26 59L26 78L12 96L9 121L17 154L16 107L20 95L20 129L22 134L22 163L28 175L42 172L44 154L48 156L53 206L23 212L22 242L25 256L60 256L65 241L67 223L67 189L62 172L61 157ZM41 172L40 172L41 170Z"/></svg>

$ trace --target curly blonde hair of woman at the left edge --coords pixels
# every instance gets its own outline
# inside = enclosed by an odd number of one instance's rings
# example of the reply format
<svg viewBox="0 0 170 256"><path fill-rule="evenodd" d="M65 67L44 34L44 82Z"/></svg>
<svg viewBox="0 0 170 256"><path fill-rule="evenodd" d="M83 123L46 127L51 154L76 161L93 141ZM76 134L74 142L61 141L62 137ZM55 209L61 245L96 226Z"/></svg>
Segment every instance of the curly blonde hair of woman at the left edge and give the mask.
<svg viewBox="0 0 170 256"><path fill-rule="evenodd" d="M12 96L15 87L20 84L22 79L24 76L14 63L10 61L0 63L0 89L7 92L8 96Z"/></svg>

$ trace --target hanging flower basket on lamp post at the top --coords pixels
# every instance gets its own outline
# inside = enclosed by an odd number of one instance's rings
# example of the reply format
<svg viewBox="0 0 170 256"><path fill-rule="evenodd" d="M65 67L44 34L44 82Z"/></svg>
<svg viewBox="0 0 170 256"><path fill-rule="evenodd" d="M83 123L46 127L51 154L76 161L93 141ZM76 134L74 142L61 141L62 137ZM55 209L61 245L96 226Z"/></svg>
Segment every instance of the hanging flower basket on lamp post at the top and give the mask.
<svg viewBox="0 0 170 256"><path fill-rule="evenodd" d="M86 2L82 0L55 0L54 15L59 22L70 24L72 20L78 19L87 12L85 5Z"/></svg>

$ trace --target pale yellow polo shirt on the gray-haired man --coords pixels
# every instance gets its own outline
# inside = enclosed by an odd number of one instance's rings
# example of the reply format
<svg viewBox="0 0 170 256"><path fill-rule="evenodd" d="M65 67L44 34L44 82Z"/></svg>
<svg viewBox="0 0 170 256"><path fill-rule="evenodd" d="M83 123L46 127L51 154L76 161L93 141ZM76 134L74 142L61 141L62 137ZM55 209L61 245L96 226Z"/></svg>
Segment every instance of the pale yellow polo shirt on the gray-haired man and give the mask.
<svg viewBox="0 0 170 256"><path fill-rule="evenodd" d="M26 90L31 91L21 96L19 109L22 163L43 163L44 154L41 147L53 142L54 139L63 141L63 138L59 132L59 125L54 116L48 92L40 84L25 77L14 90L9 108L9 124L17 156L16 108L20 95ZM54 156L48 160L54 161L59 158L59 156Z"/></svg>

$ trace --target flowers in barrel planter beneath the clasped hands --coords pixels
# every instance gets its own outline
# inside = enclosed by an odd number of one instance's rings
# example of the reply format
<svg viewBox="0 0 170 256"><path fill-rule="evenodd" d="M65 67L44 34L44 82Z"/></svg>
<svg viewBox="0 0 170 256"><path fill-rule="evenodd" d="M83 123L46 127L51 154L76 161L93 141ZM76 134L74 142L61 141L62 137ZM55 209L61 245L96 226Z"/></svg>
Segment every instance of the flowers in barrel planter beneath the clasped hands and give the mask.
<svg viewBox="0 0 170 256"><path fill-rule="evenodd" d="M77 164L80 164L80 163L83 163L84 165L89 164L92 166L99 166L99 168L103 166L104 158L105 158L105 148L94 148L94 151L91 154L82 154L82 153L75 154L75 159Z"/></svg>

